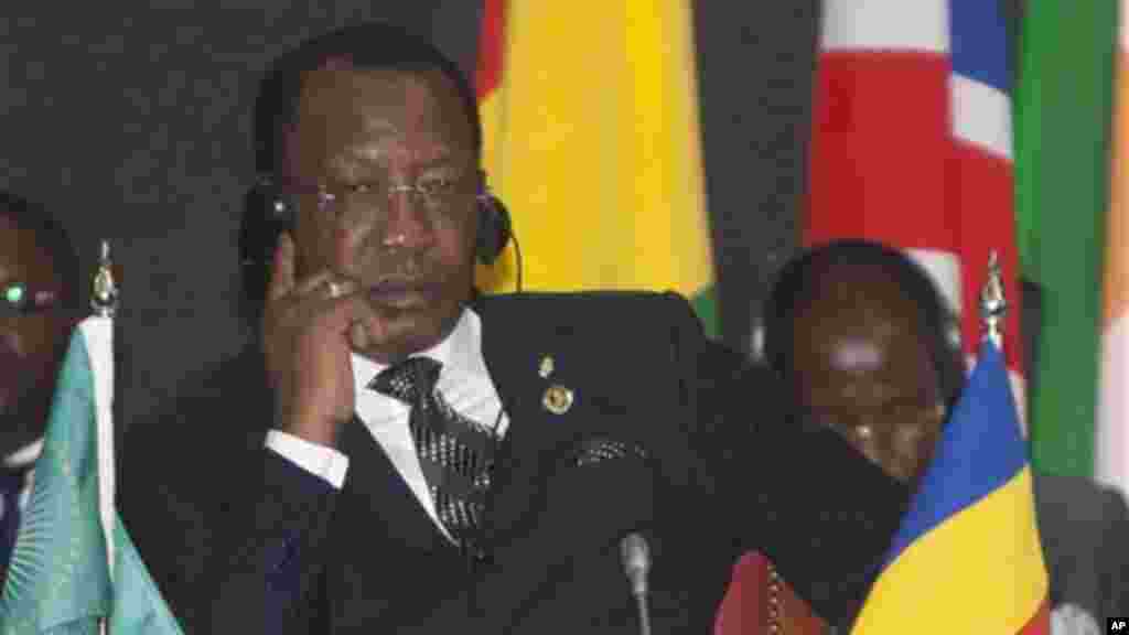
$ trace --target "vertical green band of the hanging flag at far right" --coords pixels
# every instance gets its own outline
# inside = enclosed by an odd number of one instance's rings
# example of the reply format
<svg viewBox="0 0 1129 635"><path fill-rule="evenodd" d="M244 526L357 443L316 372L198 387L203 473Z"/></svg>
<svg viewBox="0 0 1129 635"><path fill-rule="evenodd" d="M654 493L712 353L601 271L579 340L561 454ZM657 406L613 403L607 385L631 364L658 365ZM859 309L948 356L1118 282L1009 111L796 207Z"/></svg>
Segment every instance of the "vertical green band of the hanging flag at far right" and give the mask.
<svg viewBox="0 0 1129 635"><path fill-rule="evenodd" d="M1044 388L1032 394L1031 458L1038 470L1083 477L1094 473L1094 421L1104 417L1095 407L1101 332L1110 324L1101 245L1117 40L1117 0L1024 3L1016 221L1023 273L1043 292L1033 376Z"/></svg>

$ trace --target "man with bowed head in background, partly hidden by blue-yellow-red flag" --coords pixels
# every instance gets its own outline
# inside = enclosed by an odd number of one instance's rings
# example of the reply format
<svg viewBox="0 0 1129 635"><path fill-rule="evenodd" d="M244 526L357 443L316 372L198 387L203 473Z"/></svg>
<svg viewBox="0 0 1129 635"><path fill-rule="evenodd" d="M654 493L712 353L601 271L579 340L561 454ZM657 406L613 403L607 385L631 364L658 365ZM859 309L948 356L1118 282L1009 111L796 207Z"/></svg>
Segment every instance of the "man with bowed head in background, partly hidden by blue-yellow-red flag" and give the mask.
<svg viewBox="0 0 1129 635"><path fill-rule="evenodd" d="M964 384L959 327L924 270L875 243L815 247L781 271L764 334L769 366L815 420L891 476L922 475ZM1096 633L1129 614L1129 510L1087 479L1033 482L1052 620Z"/></svg>

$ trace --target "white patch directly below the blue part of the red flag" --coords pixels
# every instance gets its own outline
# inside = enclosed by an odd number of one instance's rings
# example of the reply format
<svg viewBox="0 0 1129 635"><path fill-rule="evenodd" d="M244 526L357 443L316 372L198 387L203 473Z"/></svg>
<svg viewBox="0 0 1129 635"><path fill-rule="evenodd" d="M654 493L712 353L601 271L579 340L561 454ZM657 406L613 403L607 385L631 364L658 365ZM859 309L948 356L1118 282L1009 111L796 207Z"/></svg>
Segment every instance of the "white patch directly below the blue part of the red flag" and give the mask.
<svg viewBox="0 0 1129 635"><path fill-rule="evenodd" d="M1012 103L996 88L961 75L948 84L953 136L1012 160Z"/></svg>

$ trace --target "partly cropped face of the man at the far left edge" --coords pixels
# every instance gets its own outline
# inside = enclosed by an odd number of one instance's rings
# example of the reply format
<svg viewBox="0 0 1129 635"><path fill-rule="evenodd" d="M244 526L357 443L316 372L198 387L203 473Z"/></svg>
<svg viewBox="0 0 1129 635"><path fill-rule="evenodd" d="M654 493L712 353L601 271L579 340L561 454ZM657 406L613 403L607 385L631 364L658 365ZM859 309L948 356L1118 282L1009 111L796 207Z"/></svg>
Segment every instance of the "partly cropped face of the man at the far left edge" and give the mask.
<svg viewBox="0 0 1129 635"><path fill-rule="evenodd" d="M42 434L73 324L51 254L6 212L0 210L0 289L17 294L11 289L18 288L41 306L14 312L6 303L0 312L0 454Z"/></svg>

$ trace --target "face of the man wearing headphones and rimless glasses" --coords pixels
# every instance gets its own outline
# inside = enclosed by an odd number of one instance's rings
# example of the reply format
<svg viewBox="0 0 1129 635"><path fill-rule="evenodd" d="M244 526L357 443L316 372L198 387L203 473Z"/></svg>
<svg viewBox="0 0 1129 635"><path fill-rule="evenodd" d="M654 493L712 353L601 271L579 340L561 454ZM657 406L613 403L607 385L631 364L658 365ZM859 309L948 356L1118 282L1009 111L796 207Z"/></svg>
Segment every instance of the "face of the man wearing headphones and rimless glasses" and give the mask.
<svg viewBox="0 0 1129 635"><path fill-rule="evenodd" d="M391 362L441 340L471 294L479 179L450 82L437 71L310 72L288 148L285 180L305 192L299 276L355 280L388 333L360 353Z"/></svg>

